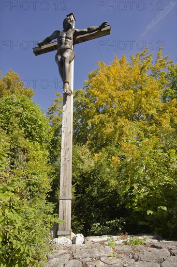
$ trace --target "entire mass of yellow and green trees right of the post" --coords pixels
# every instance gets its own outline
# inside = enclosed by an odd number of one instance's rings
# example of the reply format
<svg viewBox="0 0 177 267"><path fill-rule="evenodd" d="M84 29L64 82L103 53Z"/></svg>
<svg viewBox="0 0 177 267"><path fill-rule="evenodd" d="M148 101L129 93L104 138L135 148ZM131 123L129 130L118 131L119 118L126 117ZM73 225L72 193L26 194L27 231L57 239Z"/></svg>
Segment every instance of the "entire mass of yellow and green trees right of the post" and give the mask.
<svg viewBox="0 0 177 267"><path fill-rule="evenodd" d="M145 49L131 62L98 63L86 91L75 93L73 205L86 231L126 217L131 231L177 238L176 67L168 57L160 48L153 63Z"/></svg>

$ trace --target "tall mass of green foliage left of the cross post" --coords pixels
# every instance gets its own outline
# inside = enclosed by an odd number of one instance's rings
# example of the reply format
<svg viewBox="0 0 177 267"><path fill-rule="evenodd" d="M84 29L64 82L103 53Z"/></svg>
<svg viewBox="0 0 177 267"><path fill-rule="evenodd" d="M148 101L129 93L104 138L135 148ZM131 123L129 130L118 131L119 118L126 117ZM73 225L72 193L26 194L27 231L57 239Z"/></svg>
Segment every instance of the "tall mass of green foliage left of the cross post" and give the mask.
<svg viewBox="0 0 177 267"><path fill-rule="evenodd" d="M43 266L47 234L56 219L52 203L48 119L27 96L0 99L0 262Z"/></svg>

